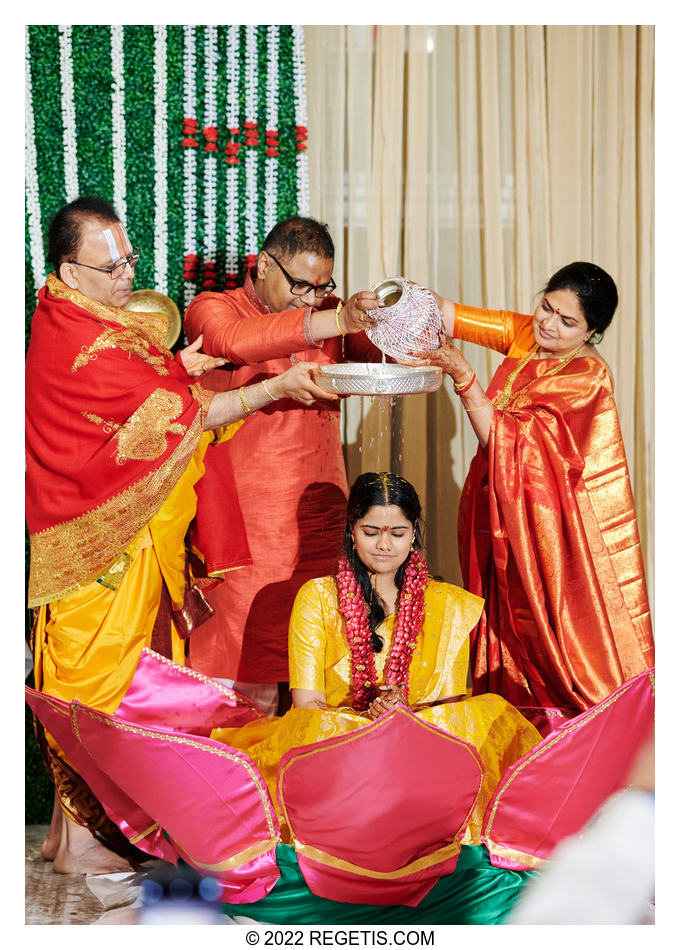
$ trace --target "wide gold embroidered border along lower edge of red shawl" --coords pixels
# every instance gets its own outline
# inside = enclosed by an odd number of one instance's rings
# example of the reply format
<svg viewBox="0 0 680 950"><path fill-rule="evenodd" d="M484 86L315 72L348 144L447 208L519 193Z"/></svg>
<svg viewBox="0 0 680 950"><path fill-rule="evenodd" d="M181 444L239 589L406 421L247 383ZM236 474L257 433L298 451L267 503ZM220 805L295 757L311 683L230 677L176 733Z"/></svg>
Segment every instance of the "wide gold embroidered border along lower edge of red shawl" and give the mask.
<svg viewBox="0 0 680 950"><path fill-rule="evenodd" d="M201 435L197 414L177 448L150 475L98 508L32 535L28 606L59 600L101 577L162 506Z"/></svg>

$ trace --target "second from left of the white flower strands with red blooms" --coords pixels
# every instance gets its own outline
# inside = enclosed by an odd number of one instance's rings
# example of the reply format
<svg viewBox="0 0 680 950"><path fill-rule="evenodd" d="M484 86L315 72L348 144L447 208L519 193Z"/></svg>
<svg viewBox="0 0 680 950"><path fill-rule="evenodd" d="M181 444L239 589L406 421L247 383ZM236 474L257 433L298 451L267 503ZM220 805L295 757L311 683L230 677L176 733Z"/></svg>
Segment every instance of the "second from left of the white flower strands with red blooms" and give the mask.
<svg viewBox="0 0 680 950"><path fill-rule="evenodd" d="M205 28L205 98L203 116L207 144L203 164L203 286L215 286L215 255L217 253L217 27Z"/></svg>

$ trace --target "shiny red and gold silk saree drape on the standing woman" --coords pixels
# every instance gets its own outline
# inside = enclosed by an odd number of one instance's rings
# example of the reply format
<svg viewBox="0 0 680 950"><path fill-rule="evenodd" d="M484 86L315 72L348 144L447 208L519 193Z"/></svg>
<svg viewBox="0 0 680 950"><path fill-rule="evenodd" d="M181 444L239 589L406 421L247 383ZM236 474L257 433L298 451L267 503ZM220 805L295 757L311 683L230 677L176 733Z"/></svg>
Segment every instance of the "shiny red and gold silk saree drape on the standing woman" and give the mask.
<svg viewBox="0 0 680 950"><path fill-rule="evenodd" d="M517 364L499 367L491 398ZM458 534L464 585L486 601L474 691L569 717L649 669L654 650L611 377L590 356L553 366L530 360L495 411Z"/></svg>

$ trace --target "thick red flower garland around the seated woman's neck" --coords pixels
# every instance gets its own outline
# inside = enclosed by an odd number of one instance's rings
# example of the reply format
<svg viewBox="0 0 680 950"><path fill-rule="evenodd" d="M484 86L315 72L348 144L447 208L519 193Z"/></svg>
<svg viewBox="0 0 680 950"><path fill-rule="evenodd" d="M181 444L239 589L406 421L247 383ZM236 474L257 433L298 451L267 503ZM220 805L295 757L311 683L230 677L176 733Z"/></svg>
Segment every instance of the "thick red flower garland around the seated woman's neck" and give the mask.
<svg viewBox="0 0 680 950"><path fill-rule="evenodd" d="M338 564L336 581L338 609L345 621L345 636L350 648L352 705L357 710L367 709L378 692L378 674L368 625L368 605L356 575L344 555ZM426 587L427 565L418 551L412 551L399 595L390 655L385 665L385 684L397 686L403 683L407 696L409 667L425 616Z"/></svg>

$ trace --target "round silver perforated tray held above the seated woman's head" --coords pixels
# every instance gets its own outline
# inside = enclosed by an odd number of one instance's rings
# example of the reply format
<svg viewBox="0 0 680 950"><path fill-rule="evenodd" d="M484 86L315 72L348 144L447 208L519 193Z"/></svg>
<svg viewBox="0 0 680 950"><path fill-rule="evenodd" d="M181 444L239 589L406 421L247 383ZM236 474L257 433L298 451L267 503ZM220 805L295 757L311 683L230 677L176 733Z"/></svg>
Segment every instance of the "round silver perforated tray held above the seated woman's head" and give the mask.
<svg viewBox="0 0 680 950"><path fill-rule="evenodd" d="M408 396L431 393L442 384L439 366L395 363L330 363L314 370L317 386L345 396Z"/></svg>

